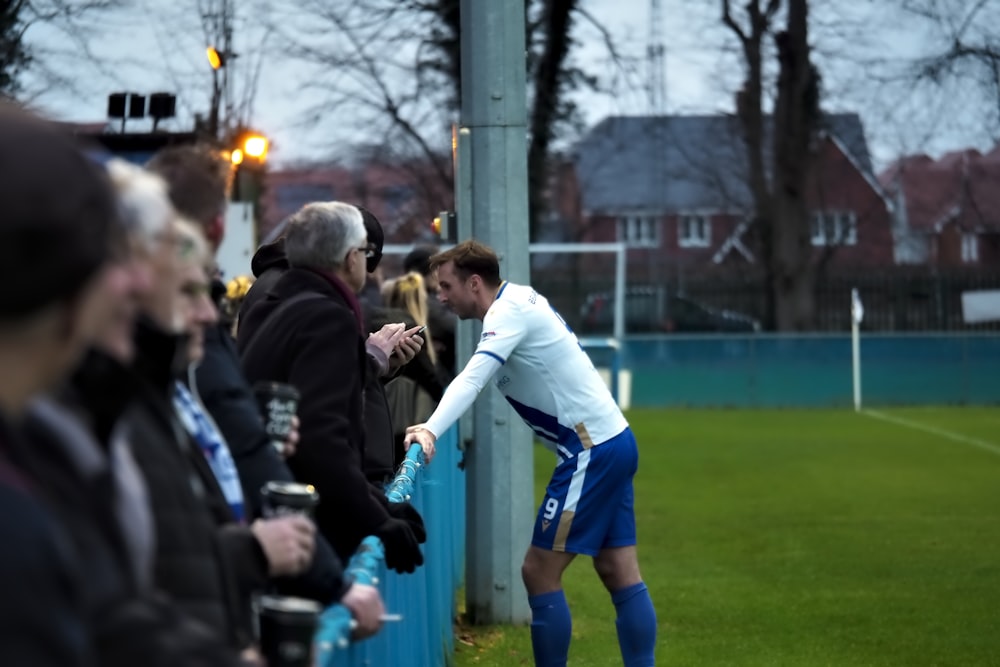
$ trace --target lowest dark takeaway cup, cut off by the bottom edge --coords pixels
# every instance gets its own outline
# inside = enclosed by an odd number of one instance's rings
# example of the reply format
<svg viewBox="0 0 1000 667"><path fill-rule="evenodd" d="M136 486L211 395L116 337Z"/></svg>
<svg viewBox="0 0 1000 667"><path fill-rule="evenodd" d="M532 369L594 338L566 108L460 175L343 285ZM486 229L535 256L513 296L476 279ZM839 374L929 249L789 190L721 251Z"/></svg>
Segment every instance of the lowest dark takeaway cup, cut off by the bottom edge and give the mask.
<svg viewBox="0 0 1000 667"><path fill-rule="evenodd" d="M318 602L277 595L257 600L260 650L268 667L311 667Z"/></svg>

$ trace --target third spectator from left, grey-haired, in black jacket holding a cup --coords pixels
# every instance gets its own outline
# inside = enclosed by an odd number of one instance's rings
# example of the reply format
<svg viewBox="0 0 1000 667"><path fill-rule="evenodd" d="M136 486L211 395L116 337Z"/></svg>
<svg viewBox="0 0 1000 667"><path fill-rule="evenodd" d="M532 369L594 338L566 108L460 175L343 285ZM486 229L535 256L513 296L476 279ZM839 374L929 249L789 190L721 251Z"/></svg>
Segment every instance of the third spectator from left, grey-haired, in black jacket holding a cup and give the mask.
<svg viewBox="0 0 1000 667"><path fill-rule="evenodd" d="M129 371L136 381L115 429L131 445L149 489L156 547L152 580L184 614L242 650L250 646L252 631L240 585L266 576L271 562L264 543L291 538L232 522L205 457L178 423L174 383L186 366L185 333L193 331L195 304L204 298L204 285L192 282L189 269L194 263L200 270L204 241L176 218L162 181L130 165L117 171L134 184L131 191L141 193L137 205L148 209L141 219L148 225L150 289L140 299L131 349L123 344L108 351L121 361L123 354L134 353ZM127 207L124 200L122 206ZM203 283L204 272L200 275Z"/></svg>

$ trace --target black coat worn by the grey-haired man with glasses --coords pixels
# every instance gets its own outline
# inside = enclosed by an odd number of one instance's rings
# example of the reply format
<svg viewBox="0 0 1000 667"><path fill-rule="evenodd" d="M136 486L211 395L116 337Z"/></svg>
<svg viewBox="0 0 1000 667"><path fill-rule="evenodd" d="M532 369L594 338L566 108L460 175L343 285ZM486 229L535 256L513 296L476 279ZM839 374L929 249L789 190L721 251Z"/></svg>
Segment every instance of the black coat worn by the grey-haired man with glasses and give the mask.
<svg viewBox="0 0 1000 667"><path fill-rule="evenodd" d="M309 292L315 294L282 307ZM237 341L251 382L285 382L302 395L300 440L288 466L319 492L316 523L341 558L389 518L384 496L363 470L365 338L350 301L330 279L292 268L245 315Z"/></svg>

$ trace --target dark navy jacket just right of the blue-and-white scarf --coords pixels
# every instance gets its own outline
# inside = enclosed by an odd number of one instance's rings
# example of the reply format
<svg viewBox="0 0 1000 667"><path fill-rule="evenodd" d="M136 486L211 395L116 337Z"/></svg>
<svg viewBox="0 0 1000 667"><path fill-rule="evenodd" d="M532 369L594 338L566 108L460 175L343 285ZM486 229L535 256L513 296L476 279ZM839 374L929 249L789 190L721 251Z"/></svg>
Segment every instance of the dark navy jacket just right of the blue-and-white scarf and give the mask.
<svg viewBox="0 0 1000 667"><path fill-rule="evenodd" d="M205 356L195 373L198 396L222 432L243 486L247 515L260 516L261 489L269 481L292 481L294 476L271 446L250 383L243 375L235 342L222 325L205 331ZM302 576L282 577L273 583L286 595L307 597L324 605L346 592L343 566L322 535L317 536L312 564Z"/></svg>

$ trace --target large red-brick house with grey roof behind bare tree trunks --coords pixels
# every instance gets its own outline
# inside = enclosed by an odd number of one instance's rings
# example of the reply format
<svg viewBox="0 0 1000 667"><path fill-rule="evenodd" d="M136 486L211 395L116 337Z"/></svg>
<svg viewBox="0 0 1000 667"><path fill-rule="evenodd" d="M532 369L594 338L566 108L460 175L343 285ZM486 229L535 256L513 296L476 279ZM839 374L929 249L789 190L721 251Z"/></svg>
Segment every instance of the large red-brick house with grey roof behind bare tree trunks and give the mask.
<svg viewBox="0 0 1000 667"><path fill-rule="evenodd" d="M874 176L861 121L834 114L825 125L808 186L817 256L835 267L891 264L891 200ZM745 270L759 266L746 238L747 183L732 116L609 117L557 168L550 225L568 230L566 241L624 241L630 272L650 281Z"/></svg>

